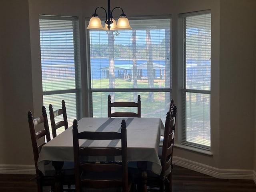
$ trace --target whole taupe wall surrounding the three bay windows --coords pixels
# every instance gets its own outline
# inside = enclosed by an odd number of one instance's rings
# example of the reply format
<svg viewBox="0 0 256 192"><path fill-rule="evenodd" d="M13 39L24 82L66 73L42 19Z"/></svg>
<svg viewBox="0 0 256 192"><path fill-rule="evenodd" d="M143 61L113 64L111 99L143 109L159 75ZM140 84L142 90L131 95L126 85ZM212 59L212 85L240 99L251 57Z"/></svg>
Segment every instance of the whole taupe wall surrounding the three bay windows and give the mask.
<svg viewBox="0 0 256 192"><path fill-rule="evenodd" d="M15 2L15 4L12 4ZM27 112L40 115L42 107L42 82L40 74L39 14L78 16L80 20L81 44L84 43L84 19L90 17L97 6L107 6L102 0L88 4L86 0L5 0L1 1L6 37L11 46L4 50L4 65L0 76L7 88L0 91L6 109L0 117L0 165L33 164ZM111 0L111 6L120 6L127 16L172 14L173 28L177 27L178 13L211 9L212 12L212 90L211 90L211 135L212 156L175 148L174 155L193 162L222 169L256 170L255 128L255 13L254 0ZM118 12L118 11L117 11ZM120 13L117 13L120 14ZM17 17L18 15L18 17ZM11 21L11 22L10 22ZM173 30L175 36L178 31ZM178 43L172 40L174 71L180 65ZM82 47L82 68L86 68L85 47ZM3 57L0 61L3 60ZM24 75L26 74L26 75ZM175 75L174 75L175 78ZM8 80L6 80L8 79ZM1 81L0 81L1 83ZM0 84L1 85L1 84ZM178 89L174 85L174 90ZM86 96L86 93L84 93ZM1 99L1 96L0 96ZM178 103L180 98L174 95ZM84 104L84 116L86 116ZM255 107L254 107L255 106ZM14 112L15 111L15 112ZM180 112L179 111L179 112ZM0 110L0 114L3 114ZM19 115L14 119L14 115ZM12 124L6 128L7 122ZM2 123L3 122L3 123ZM19 125L19 126L18 126ZM12 130L8 132L6 130ZM24 133L21 132L24 130ZM13 137L11 133L16 133ZM178 138L178 136L177 136ZM20 145L22 143L22 145ZM16 145L20 158L7 150ZM256 148L256 147L255 147ZM254 159L255 158L255 159Z"/></svg>

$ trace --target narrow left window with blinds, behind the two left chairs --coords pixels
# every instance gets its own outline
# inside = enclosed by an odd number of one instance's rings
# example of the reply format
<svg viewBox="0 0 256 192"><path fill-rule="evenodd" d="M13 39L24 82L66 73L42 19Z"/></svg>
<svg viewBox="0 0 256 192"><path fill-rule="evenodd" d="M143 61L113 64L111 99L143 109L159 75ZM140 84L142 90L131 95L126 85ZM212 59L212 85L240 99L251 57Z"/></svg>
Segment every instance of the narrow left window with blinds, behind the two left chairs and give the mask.
<svg viewBox="0 0 256 192"><path fill-rule="evenodd" d="M73 17L40 16L39 24L44 106L49 110L52 104L54 110L59 109L64 99L71 126L80 117L78 21ZM63 130L58 129L57 134Z"/></svg>

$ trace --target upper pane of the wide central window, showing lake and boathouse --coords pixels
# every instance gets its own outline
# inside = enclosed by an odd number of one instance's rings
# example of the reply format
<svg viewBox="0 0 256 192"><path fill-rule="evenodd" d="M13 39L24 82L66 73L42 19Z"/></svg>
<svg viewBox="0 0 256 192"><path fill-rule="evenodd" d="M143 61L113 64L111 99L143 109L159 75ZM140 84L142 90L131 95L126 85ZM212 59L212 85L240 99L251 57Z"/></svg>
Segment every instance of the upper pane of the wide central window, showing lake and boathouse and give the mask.
<svg viewBox="0 0 256 192"><path fill-rule="evenodd" d="M92 88L170 88L170 19L147 21L131 20L133 30L90 30Z"/></svg>

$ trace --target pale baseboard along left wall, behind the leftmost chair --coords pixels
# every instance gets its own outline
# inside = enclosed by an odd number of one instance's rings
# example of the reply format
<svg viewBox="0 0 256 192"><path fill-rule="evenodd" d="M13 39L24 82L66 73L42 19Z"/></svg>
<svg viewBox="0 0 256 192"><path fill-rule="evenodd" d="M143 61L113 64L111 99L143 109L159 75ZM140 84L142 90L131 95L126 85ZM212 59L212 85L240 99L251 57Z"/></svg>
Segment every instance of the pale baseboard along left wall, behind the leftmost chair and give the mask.
<svg viewBox="0 0 256 192"><path fill-rule="evenodd" d="M36 174L34 165L4 165L0 164L0 174Z"/></svg>

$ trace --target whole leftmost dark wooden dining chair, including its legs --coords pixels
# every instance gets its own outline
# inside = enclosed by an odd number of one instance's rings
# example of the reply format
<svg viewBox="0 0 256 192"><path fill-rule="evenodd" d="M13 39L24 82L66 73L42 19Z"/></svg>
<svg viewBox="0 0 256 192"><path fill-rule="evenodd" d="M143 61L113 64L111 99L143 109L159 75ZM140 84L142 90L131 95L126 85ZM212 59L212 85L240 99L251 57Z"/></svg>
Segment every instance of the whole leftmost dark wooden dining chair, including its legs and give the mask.
<svg viewBox="0 0 256 192"><path fill-rule="evenodd" d="M30 129L30 136L32 141L32 148L34 154L34 163L36 167L36 183L37 183L37 191L42 192L43 186L51 186L52 190L54 188L54 169L46 170L46 175L44 176L42 172L38 169L37 161L39 153L42 149L42 146L46 144L46 142L50 141L50 131L48 126L46 109L42 106L42 116L38 118L33 118L32 112L28 112L28 124ZM35 126L39 127L42 124L42 129L35 131ZM46 142L45 142L46 138Z"/></svg>

